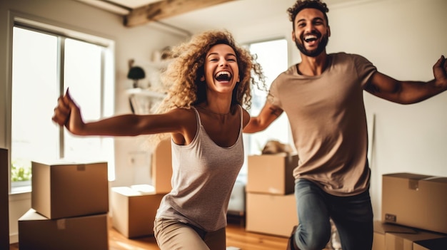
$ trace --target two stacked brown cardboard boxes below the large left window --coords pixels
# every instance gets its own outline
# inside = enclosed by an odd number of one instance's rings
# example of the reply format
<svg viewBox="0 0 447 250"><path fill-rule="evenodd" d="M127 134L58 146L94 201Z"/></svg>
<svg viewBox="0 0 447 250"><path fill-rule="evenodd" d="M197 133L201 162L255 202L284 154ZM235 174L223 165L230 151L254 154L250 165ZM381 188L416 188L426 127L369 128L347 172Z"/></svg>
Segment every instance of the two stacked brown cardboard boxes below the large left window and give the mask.
<svg viewBox="0 0 447 250"><path fill-rule="evenodd" d="M31 167L31 209L19 219L19 249L108 249L107 163Z"/></svg>

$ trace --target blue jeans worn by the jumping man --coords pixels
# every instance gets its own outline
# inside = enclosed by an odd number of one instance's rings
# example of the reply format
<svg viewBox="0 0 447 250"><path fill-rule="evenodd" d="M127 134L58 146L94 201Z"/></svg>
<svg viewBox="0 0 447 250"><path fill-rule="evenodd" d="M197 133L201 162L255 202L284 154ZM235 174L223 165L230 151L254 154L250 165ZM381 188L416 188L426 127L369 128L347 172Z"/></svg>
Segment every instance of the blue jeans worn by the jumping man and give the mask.
<svg viewBox="0 0 447 250"><path fill-rule="evenodd" d="M373 244L373 209L369 190L336 197L317 184L298 179L295 184L298 228L294 239L301 250L324 249L331 236L332 218L343 250L369 250Z"/></svg>

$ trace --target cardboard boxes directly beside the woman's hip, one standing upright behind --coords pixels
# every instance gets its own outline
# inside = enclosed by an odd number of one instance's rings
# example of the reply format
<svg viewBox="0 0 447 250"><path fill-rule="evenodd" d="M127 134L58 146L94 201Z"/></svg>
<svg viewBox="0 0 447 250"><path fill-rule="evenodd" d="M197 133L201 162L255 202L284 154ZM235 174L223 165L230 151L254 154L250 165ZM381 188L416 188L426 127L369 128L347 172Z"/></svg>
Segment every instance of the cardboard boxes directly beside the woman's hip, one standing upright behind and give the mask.
<svg viewBox="0 0 447 250"><path fill-rule="evenodd" d="M171 140L162 140L152 155L152 184L111 188L112 226L127 238L154 234L161 199L171 192Z"/></svg>

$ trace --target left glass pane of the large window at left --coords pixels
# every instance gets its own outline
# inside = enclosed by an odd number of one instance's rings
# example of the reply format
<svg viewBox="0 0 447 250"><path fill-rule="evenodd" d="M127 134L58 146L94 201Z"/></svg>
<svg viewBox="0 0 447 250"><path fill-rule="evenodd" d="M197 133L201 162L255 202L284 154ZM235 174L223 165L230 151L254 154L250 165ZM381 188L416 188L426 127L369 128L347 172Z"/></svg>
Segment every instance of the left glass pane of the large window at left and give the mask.
<svg viewBox="0 0 447 250"><path fill-rule="evenodd" d="M58 129L51 121L57 86L57 38L14 27L11 107L11 181L31 160L58 154ZM14 166L16 165L16 166Z"/></svg>

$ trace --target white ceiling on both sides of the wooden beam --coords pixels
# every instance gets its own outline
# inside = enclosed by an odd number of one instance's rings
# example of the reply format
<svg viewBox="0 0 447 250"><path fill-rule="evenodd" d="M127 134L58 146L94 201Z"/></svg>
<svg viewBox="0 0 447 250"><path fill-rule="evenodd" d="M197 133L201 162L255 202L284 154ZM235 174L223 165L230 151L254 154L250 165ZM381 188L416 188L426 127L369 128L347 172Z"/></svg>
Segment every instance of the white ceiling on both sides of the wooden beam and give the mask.
<svg viewBox="0 0 447 250"><path fill-rule="evenodd" d="M87 4L97 6L106 11L110 11L121 16L129 14L131 9L135 9L147 4L152 4L161 0L76 0ZM329 9L331 6L347 4L359 0L326 0ZM364 0L362 0L364 1ZM109 2L109 3L107 3ZM224 4L190 11L186 14L180 14L159 23L165 26L171 26L185 33L197 33L212 28L227 28L232 30L246 22L266 19L271 16L283 16L288 19L286 10L293 6L296 0L236 0ZM112 4L111 4L112 3ZM114 4L116 6L114 6ZM124 8L119 8L123 6ZM149 23L148 25L151 25Z"/></svg>

